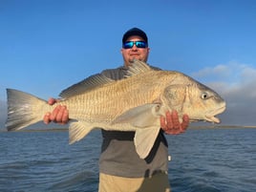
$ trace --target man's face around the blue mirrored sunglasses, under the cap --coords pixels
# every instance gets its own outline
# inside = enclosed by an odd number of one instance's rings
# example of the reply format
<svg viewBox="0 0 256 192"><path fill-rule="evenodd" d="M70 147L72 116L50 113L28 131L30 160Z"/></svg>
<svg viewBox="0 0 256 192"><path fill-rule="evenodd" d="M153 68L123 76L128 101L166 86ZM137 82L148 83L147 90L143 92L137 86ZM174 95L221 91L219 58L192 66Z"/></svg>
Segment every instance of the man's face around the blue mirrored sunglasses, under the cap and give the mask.
<svg viewBox="0 0 256 192"><path fill-rule="evenodd" d="M144 41L140 36L130 36L127 41ZM132 48L129 49L121 49L122 57L124 60L124 65L128 66L131 65L131 62L136 58L139 59L140 61L147 61L147 57L149 54L149 48L138 48L135 44L133 45Z"/></svg>

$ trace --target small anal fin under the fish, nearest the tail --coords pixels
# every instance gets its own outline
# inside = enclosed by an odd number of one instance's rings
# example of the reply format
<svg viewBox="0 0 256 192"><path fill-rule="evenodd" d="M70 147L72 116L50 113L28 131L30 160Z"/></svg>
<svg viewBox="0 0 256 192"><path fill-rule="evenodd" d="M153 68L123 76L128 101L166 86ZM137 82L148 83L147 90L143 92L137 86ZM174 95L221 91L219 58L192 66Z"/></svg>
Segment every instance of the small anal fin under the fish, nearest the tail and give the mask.
<svg viewBox="0 0 256 192"><path fill-rule="evenodd" d="M94 127L90 126L90 124L84 121L71 122L69 128L70 144L73 144L75 141L83 139L93 129Z"/></svg>

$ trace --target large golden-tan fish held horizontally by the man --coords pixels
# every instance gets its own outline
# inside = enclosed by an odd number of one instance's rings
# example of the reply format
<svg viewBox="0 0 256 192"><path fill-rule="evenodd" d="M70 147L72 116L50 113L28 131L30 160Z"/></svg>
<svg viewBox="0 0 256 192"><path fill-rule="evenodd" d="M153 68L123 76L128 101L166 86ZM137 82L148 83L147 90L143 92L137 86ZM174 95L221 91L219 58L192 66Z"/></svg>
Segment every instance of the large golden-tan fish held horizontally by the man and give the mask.
<svg viewBox="0 0 256 192"><path fill-rule="evenodd" d="M41 121L55 105L13 89L7 89L9 131ZM67 105L70 143L83 139L94 128L135 131L135 146L141 159L149 154L160 132L160 116L177 110L191 121L220 122L224 99L187 75L152 70L135 60L127 77L114 81L93 75L64 90L56 104Z"/></svg>

